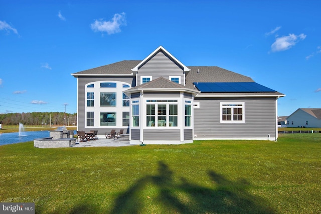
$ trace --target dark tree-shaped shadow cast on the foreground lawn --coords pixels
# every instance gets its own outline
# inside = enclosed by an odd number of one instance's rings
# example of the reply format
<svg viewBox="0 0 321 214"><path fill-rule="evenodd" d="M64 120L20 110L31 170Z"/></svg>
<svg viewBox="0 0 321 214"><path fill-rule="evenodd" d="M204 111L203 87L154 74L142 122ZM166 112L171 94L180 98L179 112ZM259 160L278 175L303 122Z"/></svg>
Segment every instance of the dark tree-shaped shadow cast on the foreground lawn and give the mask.
<svg viewBox="0 0 321 214"><path fill-rule="evenodd" d="M258 196L248 193L245 180L230 181L213 170L208 176L213 187L204 187L182 177L173 180L174 172L163 161L158 162L158 174L137 180L116 198L111 214L142 213L146 196L141 192L152 185L157 188L155 203L167 207L170 213L274 213L272 207Z"/></svg>

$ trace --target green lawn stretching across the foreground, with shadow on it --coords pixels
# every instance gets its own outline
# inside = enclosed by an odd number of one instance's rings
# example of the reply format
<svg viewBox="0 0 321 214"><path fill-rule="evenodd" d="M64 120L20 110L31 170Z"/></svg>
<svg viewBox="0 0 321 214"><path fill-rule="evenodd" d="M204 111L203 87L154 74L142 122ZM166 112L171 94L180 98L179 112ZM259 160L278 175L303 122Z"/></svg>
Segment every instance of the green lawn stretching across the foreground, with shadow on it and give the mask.
<svg viewBox="0 0 321 214"><path fill-rule="evenodd" d="M36 213L320 213L321 134L273 141L0 146L0 201Z"/></svg>

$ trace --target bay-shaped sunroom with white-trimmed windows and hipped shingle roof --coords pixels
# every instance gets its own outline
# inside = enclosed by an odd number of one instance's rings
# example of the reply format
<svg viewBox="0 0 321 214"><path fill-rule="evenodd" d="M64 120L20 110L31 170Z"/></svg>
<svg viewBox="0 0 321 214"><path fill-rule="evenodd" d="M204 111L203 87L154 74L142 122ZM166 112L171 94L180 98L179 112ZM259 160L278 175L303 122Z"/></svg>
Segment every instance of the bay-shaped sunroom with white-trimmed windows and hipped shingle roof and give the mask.
<svg viewBox="0 0 321 214"><path fill-rule="evenodd" d="M130 143L193 142L196 89L159 77L124 91L130 97Z"/></svg>

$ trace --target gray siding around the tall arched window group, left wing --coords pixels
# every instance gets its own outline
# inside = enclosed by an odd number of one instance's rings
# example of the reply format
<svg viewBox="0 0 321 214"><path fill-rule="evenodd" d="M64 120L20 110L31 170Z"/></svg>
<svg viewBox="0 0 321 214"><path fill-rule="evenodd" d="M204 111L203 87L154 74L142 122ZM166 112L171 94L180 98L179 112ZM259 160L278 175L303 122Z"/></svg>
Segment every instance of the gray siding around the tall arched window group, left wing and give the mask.
<svg viewBox="0 0 321 214"><path fill-rule="evenodd" d="M85 128L86 124L86 112L85 112L85 106L86 106L86 95L85 95L85 85L91 82L97 82L97 81L120 81L125 82L131 85L131 87L134 87L136 84L136 80L133 77L78 77L78 130L82 131L90 131L90 130L98 130L98 134L105 134L105 132L110 132L110 128ZM119 130L116 130L119 131ZM108 133L109 133L108 132Z"/></svg>

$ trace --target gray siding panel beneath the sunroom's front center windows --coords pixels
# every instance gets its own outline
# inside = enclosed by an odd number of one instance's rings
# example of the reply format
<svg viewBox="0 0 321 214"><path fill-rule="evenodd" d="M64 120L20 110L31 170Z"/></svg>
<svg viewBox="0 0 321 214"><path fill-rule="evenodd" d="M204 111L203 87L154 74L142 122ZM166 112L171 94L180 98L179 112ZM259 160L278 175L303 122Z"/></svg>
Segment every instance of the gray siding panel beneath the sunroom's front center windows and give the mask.
<svg viewBox="0 0 321 214"><path fill-rule="evenodd" d="M180 130L144 130L144 140L180 140Z"/></svg>

